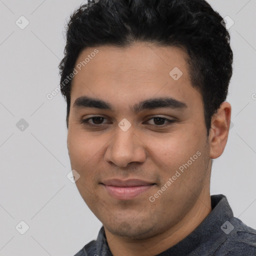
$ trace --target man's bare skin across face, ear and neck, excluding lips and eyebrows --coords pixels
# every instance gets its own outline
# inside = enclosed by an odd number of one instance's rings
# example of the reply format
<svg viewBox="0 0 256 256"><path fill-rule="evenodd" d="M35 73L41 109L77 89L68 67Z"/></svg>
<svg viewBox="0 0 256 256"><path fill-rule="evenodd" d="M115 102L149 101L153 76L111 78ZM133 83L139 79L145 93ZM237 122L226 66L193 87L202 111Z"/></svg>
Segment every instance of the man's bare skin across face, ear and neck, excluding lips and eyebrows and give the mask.
<svg viewBox="0 0 256 256"><path fill-rule="evenodd" d="M186 53L181 48L136 42L129 47L97 47L99 52L73 78L67 146L76 186L83 200L102 222L115 255L155 255L173 246L211 211L211 163L226 145L231 106L223 102L211 119L209 137L200 93L191 86ZM86 48L76 64L94 50ZM178 80L169 72L178 67ZM80 96L108 101L114 110L74 108ZM183 110L129 108L141 100L171 96L185 102ZM90 125L82 119L102 116ZM162 121L161 116L175 122ZM118 123L126 118L127 131ZM94 125L94 126L93 126ZM101 125L101 127L100 127ZM153 202L154 195L197 151L201 154ZM118 200L100 184L106 178L139 178L155 183L130 200Z"/></svg>

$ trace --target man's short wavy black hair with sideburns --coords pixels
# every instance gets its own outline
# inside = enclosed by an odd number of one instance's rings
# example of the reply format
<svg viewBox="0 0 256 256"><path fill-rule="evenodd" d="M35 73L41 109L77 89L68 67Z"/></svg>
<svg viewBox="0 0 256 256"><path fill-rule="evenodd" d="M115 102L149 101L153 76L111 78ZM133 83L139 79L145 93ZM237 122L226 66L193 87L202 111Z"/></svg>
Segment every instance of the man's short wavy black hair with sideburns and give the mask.
<svg viewBox="0 0 256 256"><path fill-rule="evenodd" d="M200 91L207 136L211 117L226 99L233 53L223 18L205 0L92 0L70 15L64 57L59 63L66 125L72 79L66 79L86 47L150 42L187 53L192 86Z"/></svg>

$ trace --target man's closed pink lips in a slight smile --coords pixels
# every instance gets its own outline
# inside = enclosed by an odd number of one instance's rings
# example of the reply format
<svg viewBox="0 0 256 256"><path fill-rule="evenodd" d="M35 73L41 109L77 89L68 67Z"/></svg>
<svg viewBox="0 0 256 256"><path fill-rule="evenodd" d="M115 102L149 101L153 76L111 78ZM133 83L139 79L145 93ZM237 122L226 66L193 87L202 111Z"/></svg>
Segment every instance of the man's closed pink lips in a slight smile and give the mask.
<svg viewBox="0 0 256 256"><path fill-rule="evenodd" d="M119 200L135 198L155 184L141 179L108 179L101 183L106 188L109 195Z"/></svg>

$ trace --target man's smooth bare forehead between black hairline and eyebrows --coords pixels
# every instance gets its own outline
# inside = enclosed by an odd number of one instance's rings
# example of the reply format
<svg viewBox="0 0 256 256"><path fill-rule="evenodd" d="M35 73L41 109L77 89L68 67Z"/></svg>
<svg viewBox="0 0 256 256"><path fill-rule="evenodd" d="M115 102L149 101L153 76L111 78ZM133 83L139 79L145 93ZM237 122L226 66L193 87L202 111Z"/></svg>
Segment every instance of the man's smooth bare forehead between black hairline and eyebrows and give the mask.
<svg viewBox="0 0 256 256"><path fill-rule="evenodd" d="M71 105L82 95L122 104L166 95L180 101L198 101L200 94L191 86L186 56L180 48L149 43L88 47L75 63Z"/></svg>

